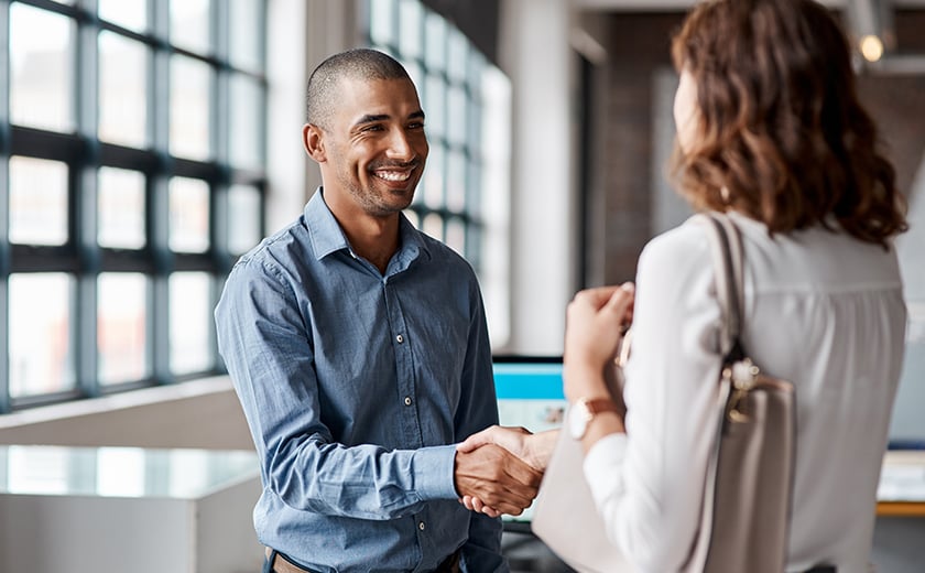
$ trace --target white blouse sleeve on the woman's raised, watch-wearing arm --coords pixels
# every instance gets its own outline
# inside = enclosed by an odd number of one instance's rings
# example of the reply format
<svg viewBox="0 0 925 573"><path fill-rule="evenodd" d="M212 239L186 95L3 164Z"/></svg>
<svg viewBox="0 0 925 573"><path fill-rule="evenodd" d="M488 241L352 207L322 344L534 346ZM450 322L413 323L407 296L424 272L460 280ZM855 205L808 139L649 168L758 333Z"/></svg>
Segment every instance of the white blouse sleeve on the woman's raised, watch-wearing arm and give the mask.
<svg viewBox="0 0 925 573"><path fill-rule="evenodd" d="M720 369L708 249L689 224L644 249L624 371L627 433L599 441L585 460L608 536L639 571L677 571L699 523Z"/></svg>

